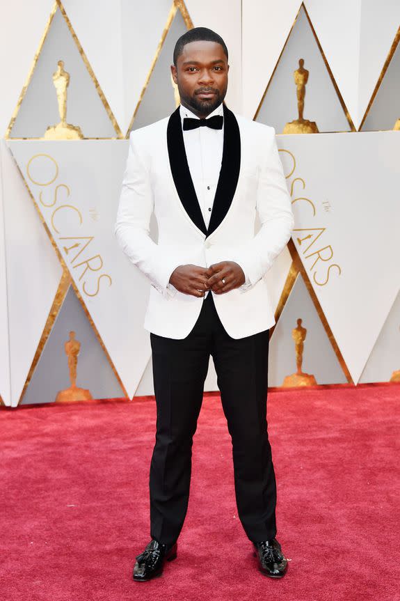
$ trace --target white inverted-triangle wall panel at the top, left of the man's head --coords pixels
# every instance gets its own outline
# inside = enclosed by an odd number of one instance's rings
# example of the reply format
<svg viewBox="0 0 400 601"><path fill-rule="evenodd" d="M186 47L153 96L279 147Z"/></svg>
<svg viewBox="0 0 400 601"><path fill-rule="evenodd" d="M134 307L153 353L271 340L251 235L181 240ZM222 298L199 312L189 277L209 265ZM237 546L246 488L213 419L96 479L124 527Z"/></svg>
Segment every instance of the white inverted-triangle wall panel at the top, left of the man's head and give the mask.
<svg viewBox="0 0 400 601"><path fill-rule="evenodd" d="M127 132L172 0L66 0L65 10L122 132ZM88 26L95 23L95 26Z"/></svg>

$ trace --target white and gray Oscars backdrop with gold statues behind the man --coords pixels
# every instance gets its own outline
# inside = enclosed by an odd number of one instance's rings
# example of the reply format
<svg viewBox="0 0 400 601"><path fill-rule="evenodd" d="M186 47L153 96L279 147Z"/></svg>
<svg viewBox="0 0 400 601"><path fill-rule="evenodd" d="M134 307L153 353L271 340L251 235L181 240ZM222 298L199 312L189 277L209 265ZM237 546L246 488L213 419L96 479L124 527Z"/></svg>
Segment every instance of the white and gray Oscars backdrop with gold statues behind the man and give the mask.
<svg viewBox="0 0 400 601"><path fill-rule="evenodd" d="M40 0L8 28L21 9L1 36L1 403L153 393L149 283L113 224L129 132L179 104L173 47L197 25L227 42L230 108L275 127L295 214L265 276L269 385L400 381L397 3Z"/></svg>

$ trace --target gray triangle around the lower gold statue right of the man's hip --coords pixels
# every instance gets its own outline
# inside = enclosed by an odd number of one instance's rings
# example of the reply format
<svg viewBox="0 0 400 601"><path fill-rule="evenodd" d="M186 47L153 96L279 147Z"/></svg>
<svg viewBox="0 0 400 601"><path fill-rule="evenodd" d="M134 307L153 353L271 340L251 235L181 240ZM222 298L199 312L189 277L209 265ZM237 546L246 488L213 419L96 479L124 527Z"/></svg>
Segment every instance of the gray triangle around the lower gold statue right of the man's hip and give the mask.
<svg viewBox="0 0 400 601"><path fill-rule="evenodd" d="M347 382L303 277L299 274L271 336L269 386L282 386L285 377L296 372L296 354L291 332L296 327L298 318L303 320L302 325L307 329L302 371L314 375L317 384Z"/></svg>

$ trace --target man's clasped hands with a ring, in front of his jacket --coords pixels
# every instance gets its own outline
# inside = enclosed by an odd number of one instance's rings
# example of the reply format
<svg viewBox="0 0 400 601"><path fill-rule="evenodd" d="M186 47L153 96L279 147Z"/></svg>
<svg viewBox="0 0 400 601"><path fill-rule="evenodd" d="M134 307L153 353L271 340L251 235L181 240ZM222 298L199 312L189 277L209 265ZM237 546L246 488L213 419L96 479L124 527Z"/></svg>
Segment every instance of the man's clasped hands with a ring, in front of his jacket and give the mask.
<svg viewBox="0 0 400 601"><path fill-rule="evenodd" d="M170 283L179 292L195 297L204 297L207 290L225 294L245 281L241 266L234 261L221 261L209 267L179 265L170 276Z"/></svg>

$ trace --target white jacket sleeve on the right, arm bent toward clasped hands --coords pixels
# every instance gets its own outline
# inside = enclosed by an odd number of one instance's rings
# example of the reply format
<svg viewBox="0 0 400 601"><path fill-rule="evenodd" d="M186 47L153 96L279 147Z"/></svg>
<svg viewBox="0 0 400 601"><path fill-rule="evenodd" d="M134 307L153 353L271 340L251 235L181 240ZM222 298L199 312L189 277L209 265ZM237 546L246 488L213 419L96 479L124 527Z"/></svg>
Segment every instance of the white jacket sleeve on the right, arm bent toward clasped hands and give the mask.
<svg viewBox="0 0 400 601"><path fill-rule="evenodd" d="M275 130L259 172L257 188L257 213L261 227L257 235L234 251L234 258L246 275L242 290L253 288L255 283L271 269L273 261L284 249L294 227L291 198L287 191L285 174L278 154Z"/></svg>

